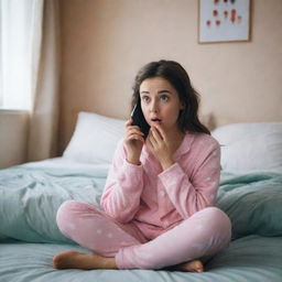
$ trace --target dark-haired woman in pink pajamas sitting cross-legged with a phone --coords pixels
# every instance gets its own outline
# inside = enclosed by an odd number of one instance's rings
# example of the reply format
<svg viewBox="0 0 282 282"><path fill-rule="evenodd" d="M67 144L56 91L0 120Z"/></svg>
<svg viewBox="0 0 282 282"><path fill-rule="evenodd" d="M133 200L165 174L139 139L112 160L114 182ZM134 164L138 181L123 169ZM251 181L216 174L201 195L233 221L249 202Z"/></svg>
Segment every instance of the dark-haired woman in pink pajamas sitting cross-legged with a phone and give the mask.
<svg viewBox="0 0 282 282"><path fill-rule="evenodd" d="M214 207L220 150L198 120L198 95L176 62L140 69L132 106L150 132L126 123L100 212L69 200L57 212L61 231L94 253L65 251L56 269L173 269L203 272L203 262L229 245L231 225Z"/></svg>

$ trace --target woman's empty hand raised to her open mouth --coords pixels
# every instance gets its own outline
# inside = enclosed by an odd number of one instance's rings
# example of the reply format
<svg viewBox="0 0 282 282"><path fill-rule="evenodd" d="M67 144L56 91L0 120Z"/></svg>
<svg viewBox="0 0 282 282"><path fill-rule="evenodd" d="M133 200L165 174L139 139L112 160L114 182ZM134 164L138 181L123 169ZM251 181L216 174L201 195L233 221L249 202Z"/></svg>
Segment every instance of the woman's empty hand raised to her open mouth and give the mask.
<svg viewBox="0 0 282 282"><path fill-rule="evenodd" d="M145 142L154 158L161 163L163 170L173 165L172 140L169 140L161 126L151 127Z"/></svg>

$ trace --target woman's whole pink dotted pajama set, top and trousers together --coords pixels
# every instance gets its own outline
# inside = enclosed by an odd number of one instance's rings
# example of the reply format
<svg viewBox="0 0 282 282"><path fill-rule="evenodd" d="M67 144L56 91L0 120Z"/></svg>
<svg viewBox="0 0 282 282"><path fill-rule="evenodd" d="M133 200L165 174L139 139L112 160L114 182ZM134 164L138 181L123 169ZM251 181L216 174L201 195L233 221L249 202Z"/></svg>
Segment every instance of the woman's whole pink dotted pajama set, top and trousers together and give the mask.
<svg viewBox="0 0 282 282"><path fill-rule="evenodd" d="M223 250L231 237L230 220L212 207L219 182L218 142L187 133L162 171L144 147L141 165L116 151L101 197L104 212L66 202L57 212L61 231L83 247L115 257L120 269L161 269Z"/></svg>

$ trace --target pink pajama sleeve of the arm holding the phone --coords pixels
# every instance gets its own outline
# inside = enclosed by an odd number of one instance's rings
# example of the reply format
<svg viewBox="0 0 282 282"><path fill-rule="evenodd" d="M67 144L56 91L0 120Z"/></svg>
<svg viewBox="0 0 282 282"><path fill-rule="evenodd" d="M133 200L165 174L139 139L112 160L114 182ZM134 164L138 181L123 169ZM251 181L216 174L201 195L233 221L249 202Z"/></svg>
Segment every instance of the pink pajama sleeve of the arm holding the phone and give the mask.
<svg viewBox="0 0 282 282"><path fill-rule="evenodd" d="M110 217L119 223L128 223L139 209L142 191L142 164L127 162L126 151L120 141L109 169L100 204Z"/></svg>

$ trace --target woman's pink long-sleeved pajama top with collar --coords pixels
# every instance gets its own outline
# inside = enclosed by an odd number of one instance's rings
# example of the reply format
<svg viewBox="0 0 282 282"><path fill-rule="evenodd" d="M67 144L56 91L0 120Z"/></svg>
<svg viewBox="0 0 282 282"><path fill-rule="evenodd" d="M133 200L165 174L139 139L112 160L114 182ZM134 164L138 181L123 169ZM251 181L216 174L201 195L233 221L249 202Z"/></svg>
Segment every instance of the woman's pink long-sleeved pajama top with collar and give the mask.
<svg viewBox="0 0 282 282"><path fill-rule="evenodd" d="M206 133L187 132L163 171L144 145L140 165L126 160L121 140L109 170L101 206L119 223L133 223L148 239L175 227L215 203L220 147Z"/></svg>

